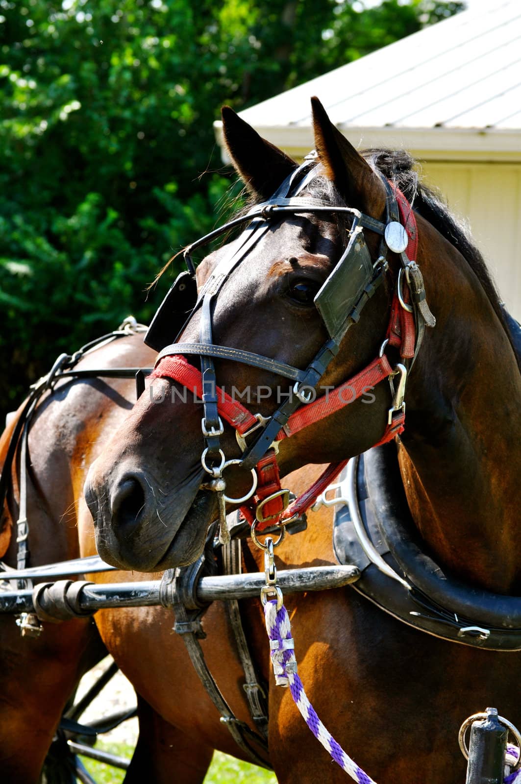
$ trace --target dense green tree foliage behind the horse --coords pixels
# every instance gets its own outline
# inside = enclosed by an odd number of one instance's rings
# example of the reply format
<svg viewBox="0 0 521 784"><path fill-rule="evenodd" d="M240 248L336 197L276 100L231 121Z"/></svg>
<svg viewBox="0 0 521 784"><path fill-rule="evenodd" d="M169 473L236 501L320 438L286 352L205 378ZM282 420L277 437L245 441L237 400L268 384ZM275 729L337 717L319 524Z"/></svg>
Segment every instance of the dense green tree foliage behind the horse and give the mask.
<svg viewBox="0 0 521 784"><path fill-rule="evenodd" d="M231 187L212 122L461 9L384 0L0 0L0 405L148 320ZM202 173L204 176L202 177Z"/></svg>

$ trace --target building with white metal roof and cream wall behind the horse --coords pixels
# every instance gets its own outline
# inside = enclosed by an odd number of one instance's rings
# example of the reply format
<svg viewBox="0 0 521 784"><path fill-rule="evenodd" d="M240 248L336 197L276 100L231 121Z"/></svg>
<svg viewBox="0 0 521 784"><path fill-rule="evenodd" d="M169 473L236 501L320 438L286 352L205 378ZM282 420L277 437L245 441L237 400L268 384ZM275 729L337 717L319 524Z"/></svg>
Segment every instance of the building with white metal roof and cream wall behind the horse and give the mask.
<svg viewBox="0 0 521 784"><path fill-rule="evenodd" d="M359 149L405 148L465 217L521 318L521 2L493 0L241 112L302 158L309 98ZM222 143L220 123L216 134Z"/></svg>

